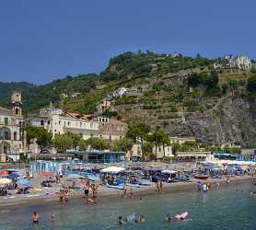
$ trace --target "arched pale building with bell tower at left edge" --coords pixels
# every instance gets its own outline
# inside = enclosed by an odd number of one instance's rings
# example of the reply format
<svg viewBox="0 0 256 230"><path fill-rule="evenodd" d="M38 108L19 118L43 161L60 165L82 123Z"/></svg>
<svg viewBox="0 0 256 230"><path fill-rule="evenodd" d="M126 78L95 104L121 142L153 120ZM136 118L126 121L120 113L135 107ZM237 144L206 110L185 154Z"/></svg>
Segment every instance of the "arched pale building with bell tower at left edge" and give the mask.
<svg viewBox="0 0 256 230"><path fill-rule="evenodd" d="M21 93L15 91L11 97L11 109L0 108L1 161L6 161L6 156L17 161L20 154L25 154L25 149Z"/></svg>

